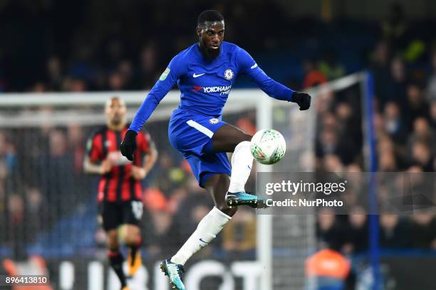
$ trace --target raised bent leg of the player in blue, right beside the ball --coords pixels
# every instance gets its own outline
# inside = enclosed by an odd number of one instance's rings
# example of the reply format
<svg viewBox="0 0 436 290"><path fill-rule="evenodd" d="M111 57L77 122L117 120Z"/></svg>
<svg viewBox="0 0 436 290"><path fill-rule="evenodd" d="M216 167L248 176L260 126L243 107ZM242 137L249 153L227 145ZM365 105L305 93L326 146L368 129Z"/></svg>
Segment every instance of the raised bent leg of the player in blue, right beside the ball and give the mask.
<svg viewBox="0 0 436 290"><path fill-rule="evenodd" d="M229 190L226 195L227 204L231 207L249 205L252 208L265 208L263 199L245 192L253 156L250 152L251 135L245 134L230 124L224 124L213 136L214 152L233 152L232 176L230 176Z"/></svg>

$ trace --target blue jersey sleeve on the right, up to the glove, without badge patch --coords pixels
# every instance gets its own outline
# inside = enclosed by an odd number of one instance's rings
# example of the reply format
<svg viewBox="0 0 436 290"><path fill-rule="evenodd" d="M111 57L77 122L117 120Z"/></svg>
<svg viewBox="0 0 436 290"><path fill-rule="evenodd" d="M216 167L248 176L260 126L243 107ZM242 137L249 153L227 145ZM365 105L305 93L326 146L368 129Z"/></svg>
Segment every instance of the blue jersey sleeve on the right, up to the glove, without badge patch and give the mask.
<svg viewBox="0 0 436 290"><path fill-rule="evenodd" d="M281 83L276 82L266 75L246 50L239 48L237 58L239 63L239 73L248 75L250 79L256 82L260 89L266 93L266 95L274 97L276 100L294 102L294 100L292 100L294 90L281 85Z"/></svg>

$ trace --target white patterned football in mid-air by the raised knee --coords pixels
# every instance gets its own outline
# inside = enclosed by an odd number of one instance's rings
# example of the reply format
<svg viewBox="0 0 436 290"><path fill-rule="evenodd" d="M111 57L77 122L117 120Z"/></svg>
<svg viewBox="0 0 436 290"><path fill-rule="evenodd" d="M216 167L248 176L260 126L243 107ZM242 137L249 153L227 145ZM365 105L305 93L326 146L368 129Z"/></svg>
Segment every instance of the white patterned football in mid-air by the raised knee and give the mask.
<svg viewBox="0 0 436 290"><path fill-rule="evenodd" d="M274 164L279 162L286 152L284 136L274 129L257 131L251 138L251 155L259 163Z"/></svg>

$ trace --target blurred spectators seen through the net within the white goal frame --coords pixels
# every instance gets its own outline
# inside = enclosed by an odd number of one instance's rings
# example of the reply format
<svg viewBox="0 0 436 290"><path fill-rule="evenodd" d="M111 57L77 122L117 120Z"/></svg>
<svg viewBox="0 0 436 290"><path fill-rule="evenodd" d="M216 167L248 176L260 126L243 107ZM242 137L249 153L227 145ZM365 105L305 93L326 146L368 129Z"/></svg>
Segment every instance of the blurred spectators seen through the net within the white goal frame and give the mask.
<svg viewBox="0 0 436 290"><path fill-rule="evenodd" d="M103 114L103 112L100 112ZM254 114L229 118L254 133ZM166 257L187 240L213 206L189 164L167 142L167 121L150 122L159 161L145 180L143 246L147 257ZM98 227L97 176L83 173L88 136L97 127L37 127L0 130L0 256L24 259L28 253L63 256L105 253ZM247 188L254 188L254 173ZM94 222L92 222L94 221ZM82 238L77 240L78 235ZM240 210L203 255L254 258L255 215ZM223 251L224 249L224 251Z"/></svg>

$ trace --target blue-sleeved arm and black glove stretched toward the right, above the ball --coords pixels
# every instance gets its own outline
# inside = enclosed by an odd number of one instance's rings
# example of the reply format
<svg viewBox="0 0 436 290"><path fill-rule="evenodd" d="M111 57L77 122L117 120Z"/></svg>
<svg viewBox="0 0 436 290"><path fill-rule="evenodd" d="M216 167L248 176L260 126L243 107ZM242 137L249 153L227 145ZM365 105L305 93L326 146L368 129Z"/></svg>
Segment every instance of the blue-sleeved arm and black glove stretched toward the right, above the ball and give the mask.
<svg viewBox="0 0 436 290"><path fill-rule="evenodd" d="M276 100L296 102L299 104L301 111L311 106L310 95L305 92L291 90L289 87L281 85L281 83L271 79L271 77L266 75L266 73L259 68L259 65L251 58L251 55L242 48L239 49L238 61L240 72L245 73L251 80L256 82L266 95L274 97Z"/></svg>

